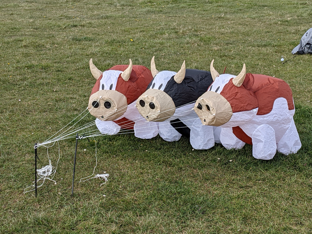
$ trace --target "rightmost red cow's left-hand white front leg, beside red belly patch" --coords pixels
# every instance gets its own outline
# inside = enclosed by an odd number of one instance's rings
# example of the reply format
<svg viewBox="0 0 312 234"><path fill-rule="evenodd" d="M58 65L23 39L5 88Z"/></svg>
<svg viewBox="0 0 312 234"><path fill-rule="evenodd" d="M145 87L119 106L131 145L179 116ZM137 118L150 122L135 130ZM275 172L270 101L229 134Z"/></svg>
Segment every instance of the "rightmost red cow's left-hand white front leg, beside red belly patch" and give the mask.
<svg viewBox="0 0 312 234"><path fill-rule="evenodd" d="M246 144L234 135L232 128L221 128L220 141L226 149L241 149Z"/></svg>

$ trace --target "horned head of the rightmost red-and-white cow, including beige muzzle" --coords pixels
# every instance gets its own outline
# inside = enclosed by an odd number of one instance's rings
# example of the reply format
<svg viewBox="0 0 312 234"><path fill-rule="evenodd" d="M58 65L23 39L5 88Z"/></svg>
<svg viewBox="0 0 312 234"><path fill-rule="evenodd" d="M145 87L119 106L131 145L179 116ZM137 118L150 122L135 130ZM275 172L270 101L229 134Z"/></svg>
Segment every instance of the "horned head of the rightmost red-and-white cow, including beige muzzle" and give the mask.
<svg viewBox="0 0 312 234"><path fill-rule="evenodd" d="M258 100L251 89L254 80L249 76L246 78L245 64L241 73L235 77L230 74L219 75L213 67L213 61L210 72L214 81L208 91L197 99L194 110L202 124L221 126L230 121L233 113L257 108ZM241 115L241 120L244 118Z"/></svg>

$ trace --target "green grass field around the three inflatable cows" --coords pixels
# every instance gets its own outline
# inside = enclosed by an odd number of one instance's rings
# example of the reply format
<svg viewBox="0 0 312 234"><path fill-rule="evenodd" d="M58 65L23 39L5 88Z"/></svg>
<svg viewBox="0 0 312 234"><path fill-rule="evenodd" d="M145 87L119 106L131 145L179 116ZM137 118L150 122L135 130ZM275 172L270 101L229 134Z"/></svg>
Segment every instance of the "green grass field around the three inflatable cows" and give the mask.
<svg viewBox="0 0 312 234"><path fill-rule="evenodd" d="M311 5L2 0L0 233L312 233L312 57L280 61L312 27ZM192 151L186 138L98 137L96 173L110 173L100 187L96 179L78 183L95 165L94 142L85 139L71 197L75 140L68 139L59 142L57 184L45 183L37 198L23 194L34 180L33 144L87 107L95 84L90 58L103 71L129 58L149 68L152 56L159 71L178 71L183 60L187 68L209 70L215 59L220 73L227 66L238 74L246 63L247 72L285 80L302 148L261 161L251 146ZM57 150L50 148L52 164ZM48 164L45 148L38 155L38 167Z"/></svg>

